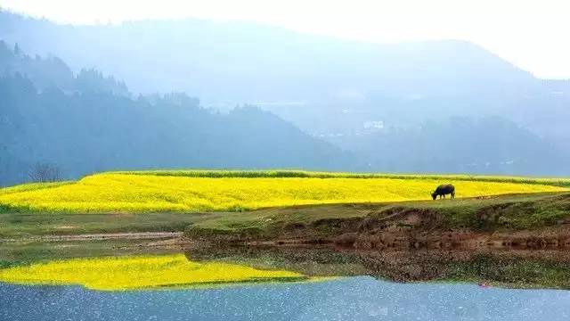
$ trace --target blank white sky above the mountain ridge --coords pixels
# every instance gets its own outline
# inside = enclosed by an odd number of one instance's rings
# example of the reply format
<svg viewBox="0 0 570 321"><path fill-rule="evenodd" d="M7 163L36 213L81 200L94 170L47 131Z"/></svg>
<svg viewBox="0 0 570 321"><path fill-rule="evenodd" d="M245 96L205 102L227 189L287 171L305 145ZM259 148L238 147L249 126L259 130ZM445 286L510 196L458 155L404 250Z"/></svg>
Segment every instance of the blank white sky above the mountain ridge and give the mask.
<svg viewBox="0 0 570 321"><path fill-rule="evenodd" d="M570 0L0 0L72 23L247 20L371 42L463 39L544 78L570 78Z"/></svg>

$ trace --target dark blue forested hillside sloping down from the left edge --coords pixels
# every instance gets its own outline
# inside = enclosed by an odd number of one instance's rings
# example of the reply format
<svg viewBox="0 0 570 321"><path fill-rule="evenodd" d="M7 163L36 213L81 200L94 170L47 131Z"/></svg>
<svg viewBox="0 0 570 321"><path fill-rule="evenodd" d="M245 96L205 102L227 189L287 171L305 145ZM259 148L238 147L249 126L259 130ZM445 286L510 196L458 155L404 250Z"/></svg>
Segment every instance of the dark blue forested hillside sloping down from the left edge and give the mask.
<svg viewBox="0 0 570 321"><path fill-rule="evenodd" d="M256 107L220 114L181 93L133 99L96 70L74 75L57 58L3 53L0 185L29 180L37 164L57 167L60 178L108 169L348 166L338 148Z"/></svg>

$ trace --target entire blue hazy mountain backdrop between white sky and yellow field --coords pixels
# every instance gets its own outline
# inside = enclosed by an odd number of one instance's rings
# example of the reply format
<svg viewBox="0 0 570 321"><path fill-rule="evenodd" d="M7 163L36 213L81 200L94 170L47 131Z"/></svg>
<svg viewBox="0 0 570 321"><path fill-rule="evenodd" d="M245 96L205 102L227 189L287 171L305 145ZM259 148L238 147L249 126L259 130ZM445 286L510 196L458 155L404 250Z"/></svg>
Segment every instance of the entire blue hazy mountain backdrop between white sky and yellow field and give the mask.
<svg viewBox="0 0 570 321"><path fill-rule="evenodd" d="M570 82L466 42L376 45L196 20L69 26L11 12L0 12L0 40L0 185L27 181L37 163L62 178L570 175Z"/></svg>

